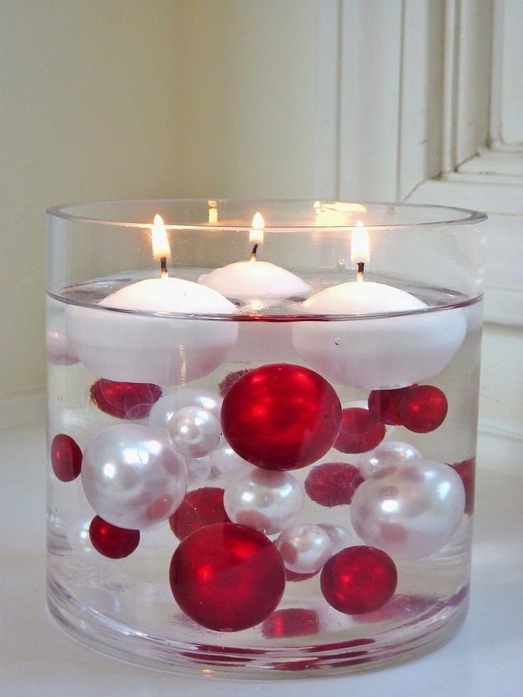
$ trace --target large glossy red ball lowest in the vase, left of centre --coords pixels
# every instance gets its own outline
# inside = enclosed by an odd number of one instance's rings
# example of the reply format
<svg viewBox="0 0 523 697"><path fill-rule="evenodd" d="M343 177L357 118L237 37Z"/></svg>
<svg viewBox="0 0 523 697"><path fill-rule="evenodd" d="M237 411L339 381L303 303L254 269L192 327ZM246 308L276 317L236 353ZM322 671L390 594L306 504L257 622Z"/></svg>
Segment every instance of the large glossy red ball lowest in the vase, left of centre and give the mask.
<svg viewBox="0 0 523 697"><path fill-rule="evenodd" d="M200 528L178 545L169 581L176 603L199 625L239 632L269 617L285 590L285 567L261 532L236 523Z"/></svg>

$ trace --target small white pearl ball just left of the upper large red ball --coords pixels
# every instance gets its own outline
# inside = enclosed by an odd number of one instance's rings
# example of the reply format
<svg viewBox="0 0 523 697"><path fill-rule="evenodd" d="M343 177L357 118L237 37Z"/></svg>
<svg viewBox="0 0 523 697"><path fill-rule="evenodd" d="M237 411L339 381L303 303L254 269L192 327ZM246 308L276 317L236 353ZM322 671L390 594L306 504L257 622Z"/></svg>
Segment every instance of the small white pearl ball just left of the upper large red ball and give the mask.
<svg viewBox="0 0 523 697"><path fill-rule="evenodd" d="M220 443L220 423L207 409L184 406L167 424L173 448L185 458L203 458Z"/></svg>

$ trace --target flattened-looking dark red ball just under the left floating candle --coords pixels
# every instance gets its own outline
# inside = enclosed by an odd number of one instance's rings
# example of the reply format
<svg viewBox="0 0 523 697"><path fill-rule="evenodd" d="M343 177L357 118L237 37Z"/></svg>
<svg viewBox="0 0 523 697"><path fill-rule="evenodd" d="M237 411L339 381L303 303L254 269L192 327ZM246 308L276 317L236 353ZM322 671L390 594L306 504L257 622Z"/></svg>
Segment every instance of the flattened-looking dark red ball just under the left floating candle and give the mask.
<svg viewBox="0 0 523 697"><path fill-rule="evenodd" d="M162 389L149 382L114 382L104 378L90 388L91 401L100 411L117 418L146 418L162 396Z"/></svg>

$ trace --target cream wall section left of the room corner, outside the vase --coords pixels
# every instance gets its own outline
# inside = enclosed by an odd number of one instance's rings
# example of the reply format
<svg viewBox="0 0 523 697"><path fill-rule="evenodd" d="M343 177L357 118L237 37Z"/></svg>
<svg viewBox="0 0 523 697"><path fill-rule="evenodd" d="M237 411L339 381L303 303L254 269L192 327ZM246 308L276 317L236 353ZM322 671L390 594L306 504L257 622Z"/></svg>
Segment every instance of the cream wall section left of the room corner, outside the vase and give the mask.
<svg viewBox="0 0 523 697"><path fill-rule="evenodd" d="M0 1L0 399L45 381L45 209L178 195L179 10Z"/></svg>

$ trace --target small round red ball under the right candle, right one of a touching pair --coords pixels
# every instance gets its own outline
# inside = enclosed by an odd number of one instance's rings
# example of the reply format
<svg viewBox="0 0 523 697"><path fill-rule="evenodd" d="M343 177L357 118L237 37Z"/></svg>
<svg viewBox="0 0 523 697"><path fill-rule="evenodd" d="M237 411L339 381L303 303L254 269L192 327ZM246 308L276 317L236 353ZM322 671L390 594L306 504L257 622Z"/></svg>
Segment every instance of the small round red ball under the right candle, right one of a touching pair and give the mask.
<svg viewBox="0 0 523 697"><path fill-rule="evenodd" d="M433 385L416 385L399 402L401 423L414 433L430 433L441 426L447 416L445 394Z"/></svg>

